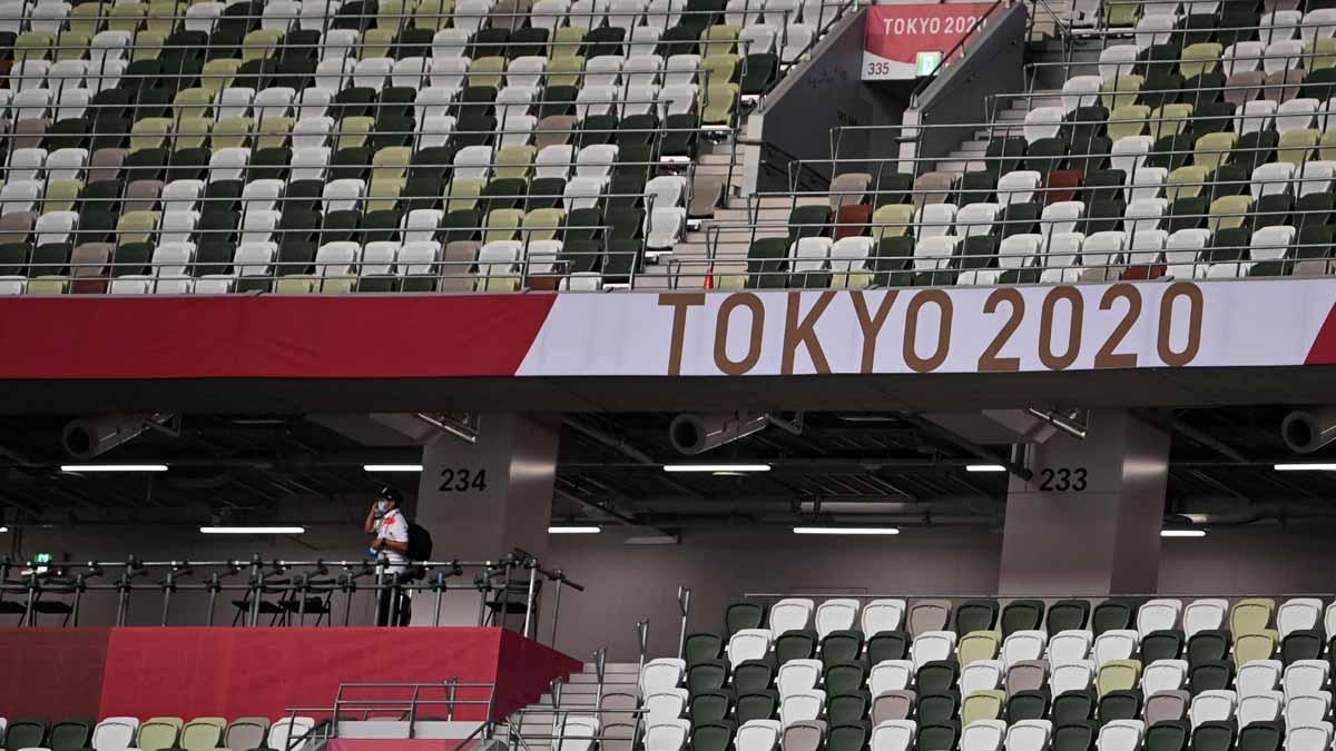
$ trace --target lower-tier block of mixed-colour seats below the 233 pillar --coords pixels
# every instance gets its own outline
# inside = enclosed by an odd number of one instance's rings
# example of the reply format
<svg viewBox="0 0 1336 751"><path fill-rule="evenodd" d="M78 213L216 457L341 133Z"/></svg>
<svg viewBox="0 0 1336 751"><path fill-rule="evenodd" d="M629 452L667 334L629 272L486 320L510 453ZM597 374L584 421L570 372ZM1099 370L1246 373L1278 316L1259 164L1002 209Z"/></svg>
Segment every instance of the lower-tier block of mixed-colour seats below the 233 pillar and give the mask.
<svg viewBox="0 0 1336 751"><path fill-rule="evenodd" d="M1324 653L1321 633L1336 627L1336 604L859 604L729 605L723 632L692 633L683 659L645 665L647 735L663 723L709 748L763 751L1331 746L1336 652Z"/></svg>

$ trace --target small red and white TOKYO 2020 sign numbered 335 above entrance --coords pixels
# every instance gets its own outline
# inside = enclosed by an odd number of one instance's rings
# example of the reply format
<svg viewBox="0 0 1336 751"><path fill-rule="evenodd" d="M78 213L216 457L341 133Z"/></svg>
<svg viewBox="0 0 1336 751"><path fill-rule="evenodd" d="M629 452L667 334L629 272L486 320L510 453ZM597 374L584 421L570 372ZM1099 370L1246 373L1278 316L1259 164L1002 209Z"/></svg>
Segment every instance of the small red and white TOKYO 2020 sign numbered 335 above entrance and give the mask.
<svg viewBox="0 0 1336 751"><path fill-rule="evenodd" d="M991 3L896 4L867 9L863 80L903 80L927 75L970 35ZM985 21L986 23L986 21ZM981 28L983 24L979 24ZM919 53L925 59L918 69ZM955 55L959 56L961 51Z"/></svg>

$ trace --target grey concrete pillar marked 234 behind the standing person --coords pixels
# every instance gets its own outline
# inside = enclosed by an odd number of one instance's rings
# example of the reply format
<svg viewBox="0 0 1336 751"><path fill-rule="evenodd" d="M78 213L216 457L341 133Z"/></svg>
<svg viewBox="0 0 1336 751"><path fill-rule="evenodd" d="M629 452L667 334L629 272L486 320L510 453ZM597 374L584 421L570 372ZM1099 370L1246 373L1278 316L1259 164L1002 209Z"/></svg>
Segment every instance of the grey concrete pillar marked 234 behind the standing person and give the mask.
<svg viewBox="0 0 1336 751"><path fill-rule="evenodd" d="M558 428L521 414L486 413L480 417L476 444L441 434L422 449L414 520L432 533L433 559L497 560L521 548L544 561ZM472 584L478 572L466 569L452 583ZM424 604L430 595L420 597L413 624L430 625L434 603ZM477 621L476 593L446 596L441 625Z"/></svg>

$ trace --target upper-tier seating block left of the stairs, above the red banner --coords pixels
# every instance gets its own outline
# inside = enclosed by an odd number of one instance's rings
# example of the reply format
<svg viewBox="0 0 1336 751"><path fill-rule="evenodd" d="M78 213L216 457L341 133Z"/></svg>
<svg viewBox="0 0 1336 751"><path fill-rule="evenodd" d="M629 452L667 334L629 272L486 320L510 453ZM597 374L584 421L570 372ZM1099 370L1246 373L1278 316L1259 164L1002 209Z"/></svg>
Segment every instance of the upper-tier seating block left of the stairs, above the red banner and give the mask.
<svg viewBox="0 0 1336 751"><path fill-rule="evenodd" d="M41 0L0 40L0 291L624 282L712 212L696 158L840 11Z"/></svg>

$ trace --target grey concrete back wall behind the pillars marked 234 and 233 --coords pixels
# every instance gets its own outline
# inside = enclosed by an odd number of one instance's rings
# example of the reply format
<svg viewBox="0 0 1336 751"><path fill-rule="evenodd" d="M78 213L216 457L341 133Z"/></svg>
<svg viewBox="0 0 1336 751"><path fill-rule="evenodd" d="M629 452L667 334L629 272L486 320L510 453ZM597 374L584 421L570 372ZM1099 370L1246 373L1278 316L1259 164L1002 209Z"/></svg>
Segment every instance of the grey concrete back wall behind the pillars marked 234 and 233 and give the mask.
<svg viewBox="0 0 1336 751"><path fill-rule="evenodd" d="M350 512L353 506L350 506ZM1329 553L1331 531L1323 528L1217 529L1200 540L1165 540L1160 591L1166 593L1248 595L1336 591L1336 559ZM9 549L12 535L0 536ZM358 559L363 536L355 524L313 527L289 539L227 540L174 528L33 529L21 552L68 552L73 560L140 557L182 559ZM675 653L679 615L676 591L691 587L689 629L717 629L728 601L744 592L850 593L993 593L998 584L1002 536L990 531L906 529L895 537L803 537L788 532L696 531L680 545L627 547L616 529L603 535L552 537L546 561L564 568L587 592L562 596L557 647L587 657L601 645L613 660L635 660L633 624L651 621L651 655ZM448 555L438 551L442 557ZM452 597L474 597L472 593ZM230 597L228 597L230 599ZM111 595L90 596L86 624L110 623ZM156 624L159 599L144 596L131 609L132 624ZM202 593L182 592L172 607L172 624L198 624L204 612ZM341 607L341 601L337 601ZM430 608L430 603L420 603ZM219 621L231 621L231 608L219 607ZM48 616L49 617L49 616ZM544 619L546 613L544 613ZM353 623L370 619L370 601L354 608ZM9 623L8 619L4 623ZM544 620L541 636L548 637Z"/></svg>

